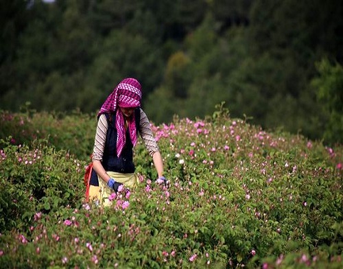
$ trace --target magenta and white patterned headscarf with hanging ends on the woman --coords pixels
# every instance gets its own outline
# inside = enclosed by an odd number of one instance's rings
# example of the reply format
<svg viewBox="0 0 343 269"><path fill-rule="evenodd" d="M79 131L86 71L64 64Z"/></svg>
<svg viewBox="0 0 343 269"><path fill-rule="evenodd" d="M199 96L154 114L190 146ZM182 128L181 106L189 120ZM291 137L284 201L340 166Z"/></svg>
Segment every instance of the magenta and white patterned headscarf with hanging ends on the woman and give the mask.
<svg viewBox="0 0 343 269"><path fill-rule="evenodd" d="M97 117L104 113L116 112L115 126L117 128L117 156L119 157L121 151L124 148L126 143L125 135L125 123L124 116L119 109L119 106L122 108L136 108L141 106L141 84L138 80L134 78L126 78L122 80L113 90L113 93L108 95L106 101L100 108ZM128 119L128 129L130 132L130 139L133 146L137 143L137 130L136 123L134 119L134 113Z"/></svg>

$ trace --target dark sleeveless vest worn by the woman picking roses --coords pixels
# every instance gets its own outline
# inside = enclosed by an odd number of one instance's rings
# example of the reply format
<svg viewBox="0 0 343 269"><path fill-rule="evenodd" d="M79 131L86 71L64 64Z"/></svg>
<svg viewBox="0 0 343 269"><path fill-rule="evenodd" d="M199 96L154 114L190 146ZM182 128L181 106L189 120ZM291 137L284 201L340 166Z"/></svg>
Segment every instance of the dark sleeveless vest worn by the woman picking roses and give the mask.
<svg viewBox="0 0 343 269"><path fill-rule="evenodd" d="M104 154L102 156L102 166L106 171L119 172L123 174L134 173L133 163L133 144L129 130L126 130L126 140L120 156L117 156L117 128L115 127L115 113L105 114L108 122ZM141 119L140 108L134 110L134 118L137 129L139 130L139 120ZM93 169L90 184L99 186L97 173Z"/></svg>

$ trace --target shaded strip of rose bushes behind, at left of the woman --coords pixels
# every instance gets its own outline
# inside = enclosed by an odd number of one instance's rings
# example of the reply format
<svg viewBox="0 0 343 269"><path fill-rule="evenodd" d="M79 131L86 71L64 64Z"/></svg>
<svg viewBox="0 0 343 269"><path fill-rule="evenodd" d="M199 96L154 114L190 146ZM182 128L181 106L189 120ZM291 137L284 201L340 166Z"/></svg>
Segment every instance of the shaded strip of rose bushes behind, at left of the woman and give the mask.
<svg viewBox="0 0 343 269"><path fill-rule="evenodd" d="M57 150L67 150L78 159L89 160L93 150L97 119L75 110L73 113L36 113L27 104L22 113L0 110L0 139L11 137L13 145L31 145L45 139ZM0 143L3 146L3 143Z"/></svg>

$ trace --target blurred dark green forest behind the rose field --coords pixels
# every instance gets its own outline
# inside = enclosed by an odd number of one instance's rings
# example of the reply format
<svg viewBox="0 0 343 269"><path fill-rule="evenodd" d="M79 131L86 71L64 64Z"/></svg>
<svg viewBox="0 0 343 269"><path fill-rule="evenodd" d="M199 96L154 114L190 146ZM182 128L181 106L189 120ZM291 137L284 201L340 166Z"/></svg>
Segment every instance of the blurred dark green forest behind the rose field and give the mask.
<svg viewBox="0 0 343 269"><path fill-rule="evenodd" d="M155 124L231 117L343 142L342 0L2 0L0 108L95 113L125 77Z"/></svg>

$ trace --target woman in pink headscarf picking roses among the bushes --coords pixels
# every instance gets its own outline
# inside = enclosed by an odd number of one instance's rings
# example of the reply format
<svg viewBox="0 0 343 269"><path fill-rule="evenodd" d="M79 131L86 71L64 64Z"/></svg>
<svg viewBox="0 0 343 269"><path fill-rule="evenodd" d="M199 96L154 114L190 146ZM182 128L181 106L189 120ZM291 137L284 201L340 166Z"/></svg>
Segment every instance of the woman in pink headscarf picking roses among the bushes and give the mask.
<svg viewBox="0 0 343 269"><path fill-rule="evenodd" d="M121 185L136 185L138 178L134 174L132 150L138 132L152 156L158 181L165 181L162 157L150 121L140 108L141 96L141 84L134 78L126 78L115 87L99 110L89 184L91 200L108 205L108 196L117 192Z"/></svg>

